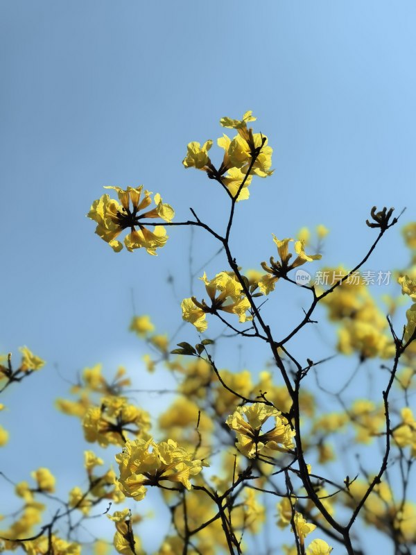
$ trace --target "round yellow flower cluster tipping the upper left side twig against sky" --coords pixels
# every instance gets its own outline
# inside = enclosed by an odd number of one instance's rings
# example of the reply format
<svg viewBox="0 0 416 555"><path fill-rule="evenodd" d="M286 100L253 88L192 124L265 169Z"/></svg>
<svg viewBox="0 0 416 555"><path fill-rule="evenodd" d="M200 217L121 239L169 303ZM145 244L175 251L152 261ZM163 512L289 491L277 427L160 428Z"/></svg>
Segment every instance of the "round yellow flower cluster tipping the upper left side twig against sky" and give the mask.
<svg viewBox="0 0 416 555"><path fill-rule="evenodd" d="M130 233L124 239L125 247L130 252L135 248L143 247L150 255L155 255L156 249L166 244L168 239L166 230L162 225L156 225L152 232L141 224L140 220L143 218L161 218L170 222L175 215L173 208L162 203L161 196L155 194L153 200L156 207L143 214L138 214L152 203L151 193L150 191L143 191L143 185L136 188L128 187L125 190L120 187L105 187L105 189L114 189L119 196L120 203L107 194L101 196L98 200L94 200L87 216L96 221L96 234L118 253L123 245L116 240L116 237L123 230L130 229ZM141 198L142 195L143 198Z"/></svg>

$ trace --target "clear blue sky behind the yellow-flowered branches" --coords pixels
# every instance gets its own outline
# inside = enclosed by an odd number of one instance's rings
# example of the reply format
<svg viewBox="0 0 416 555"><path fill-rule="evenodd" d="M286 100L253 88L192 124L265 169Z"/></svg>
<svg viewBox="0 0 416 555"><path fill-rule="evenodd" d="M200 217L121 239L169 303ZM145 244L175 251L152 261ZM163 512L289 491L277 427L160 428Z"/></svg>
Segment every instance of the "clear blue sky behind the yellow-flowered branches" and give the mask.
<svg viewBox="0 0 416 555"><path fill-rule="evenodd" d="M275 255L272 233L318 223L331 229L324 262L352 265L374 238L372 205L406 206L403 223L415 219L415 19L413 1L0 3L0 351L18 359L26 344L48 361L3 399L11 437L2 468L13 479L37 466L65 469L68 486L79 479L78 422L53 413L68 388L62 377L103 361L148 384L127 332L132 293L159 331L181 323L189 230L171 229L158 257L114 254L85 218L103 185L143 183L178 221L192 206L221 229L227 198L181 161L191 140L221 135L220 117L253 110L275 173L254 180L238 207L241 266ZM197 268L217 246L200 232L195 241ZM392 230L366 269L404 266L401 244ZM225 269L224 259L207 269ZM276 324L284 332L302 301L295 313L286 299L275 303L277 322L287 309ZM196 339L189 327L185 339ZM243 353L224 350L220 366L261 369L258 352ZM62 434L71 441L58 448Z"/></svg>

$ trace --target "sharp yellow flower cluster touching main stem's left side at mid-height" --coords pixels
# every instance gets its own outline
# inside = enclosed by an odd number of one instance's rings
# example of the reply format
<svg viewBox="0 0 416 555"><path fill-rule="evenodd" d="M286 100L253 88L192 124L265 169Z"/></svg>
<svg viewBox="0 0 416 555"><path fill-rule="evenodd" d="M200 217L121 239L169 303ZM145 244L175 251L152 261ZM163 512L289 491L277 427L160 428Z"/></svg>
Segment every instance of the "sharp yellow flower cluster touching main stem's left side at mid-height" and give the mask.
<svg viewBox="0 0 416 555"><path fill-rule="evenodd" d="M204 299L202 302L196 300L196 297L184 299L181 307L182 318L185 321L192 323L199 332L204 332L207 329L206 315L216 314L218 310L236 314L240 322L252 320L251 315L245 314L250 310L250 301L244 295L234 273L220 272L213 280L208 280L207 274L204 273L200 279L205 283L211 306L207 305Z"/></svg>

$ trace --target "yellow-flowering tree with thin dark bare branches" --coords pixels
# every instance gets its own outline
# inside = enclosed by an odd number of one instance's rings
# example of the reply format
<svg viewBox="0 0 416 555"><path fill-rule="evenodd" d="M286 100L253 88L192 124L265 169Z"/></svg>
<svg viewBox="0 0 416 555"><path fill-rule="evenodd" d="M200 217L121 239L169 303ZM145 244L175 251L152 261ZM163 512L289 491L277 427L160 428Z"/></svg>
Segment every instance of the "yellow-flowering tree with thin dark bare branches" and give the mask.
<svg viewBox="0 0 416 555"><path fill-rule="evenodd" d="M60 411L80 418L86 441L115 450L116 470L100 471L103 459L88 450L87 486L73 487L67 499L53 496L55 477L47 468L34 470L31 481L15 483L22 506L0 531L4 551L63 555L93 549L98 555L116 549L125 555L143 554L135 523L142 518L140 502L150 488L159 490L171 515L157 555L251 553L270 527L275 531L263 543L264 554L367 554L356 533L363 525L389 538L388 552L410 555L415 547L416 505L409 494L416 455L416 422L410 409L416 304L408 307L406 321L393 326L399 303L389 300L386 317L369 288L371 280L386 276L367 275L363 268L398 218L392 217L393 209L372 208L367 225L376 237L352 269L320 268L314 279L297 269L313 267L321 259L327 234L323 225L316 230L315 249L306 229L296 240L273 236L269 262L256 261L259 267L254 270L242 268L229 241L237 203L248 200L253 178L272 175L272 148L265 135L248 126L252 121L252 112L241 120L220 120L234 137L218 139L224 151L218 167L209 157L211 140L202 146L189 143L183 161L185 168L206 173L223 189L219 194L228 197L223 230L214 230L193 209L191 219L173 221L171 205L143 186L107 187L112 194L92 204L88 216L96 222L96 234L116 253L124 244L130 252L144 248L156 255L168 240L166 227L192 226L218 243L227 266L210 277L203 273L198 293L182 301L183 320L198 332L195 343L180 341L173 348L166 335L155 333L149 316L132 319L130 330L149 348L144 359L148 370L164 368L177 379L175 400L157 421L131 400L130 379L123 368L111 380L101 365L85 368L80 383L71 389L73 398L58 400ZM127 233L122 243L123 232ZM406 225L404 238L412 258L396 278L406 299L416 300L415 223ZM272 329L263 310L266 300L279 302L279 281L301 287L310 299L286 336ZM338 352L358 359L354 372L335 390L322 381L322 369L338 361L313 361L304 348L293 346L293 338L302 339L307 327L318 325L313 317L320 306L338 330ZM254 376L248 370L220 368L218 337L207 336L215 320L231 336L266 345L272 359L268 369ZM1 391L44 366L28 348L21 352L18 367L11 355L1 361ZM363 398L358 391L350 399L346 391L370 359L382 359L381 396ZM337 408L323 411L326 399ZM0 427L0 445L7 439ZM340 461L346 450L354 450L357 459L345 463L344 472ZM42 501L59 505L52 518L44 516ZM115 512L113 504L118 506ZM114 547L98 538L92 545L83 540L83 529L96 517L114 522Z"/></svg>

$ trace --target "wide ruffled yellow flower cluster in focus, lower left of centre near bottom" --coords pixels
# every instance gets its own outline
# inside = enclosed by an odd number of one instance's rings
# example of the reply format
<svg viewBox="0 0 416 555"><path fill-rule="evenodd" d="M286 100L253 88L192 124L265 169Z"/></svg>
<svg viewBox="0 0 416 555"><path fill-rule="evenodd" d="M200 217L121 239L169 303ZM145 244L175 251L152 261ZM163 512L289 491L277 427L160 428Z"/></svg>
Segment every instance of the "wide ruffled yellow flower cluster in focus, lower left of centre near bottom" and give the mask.
<svg viewBox="0 0 416 555"><path fill-rule="evenodd" d="M152 439L127 441L123 452L116 455L119 463L119 485L124 495L137 501L146 495L145 486L159 481L180 482L191 489L189 478L202 470L202 461L171 439L155 443Z"/></svg>

